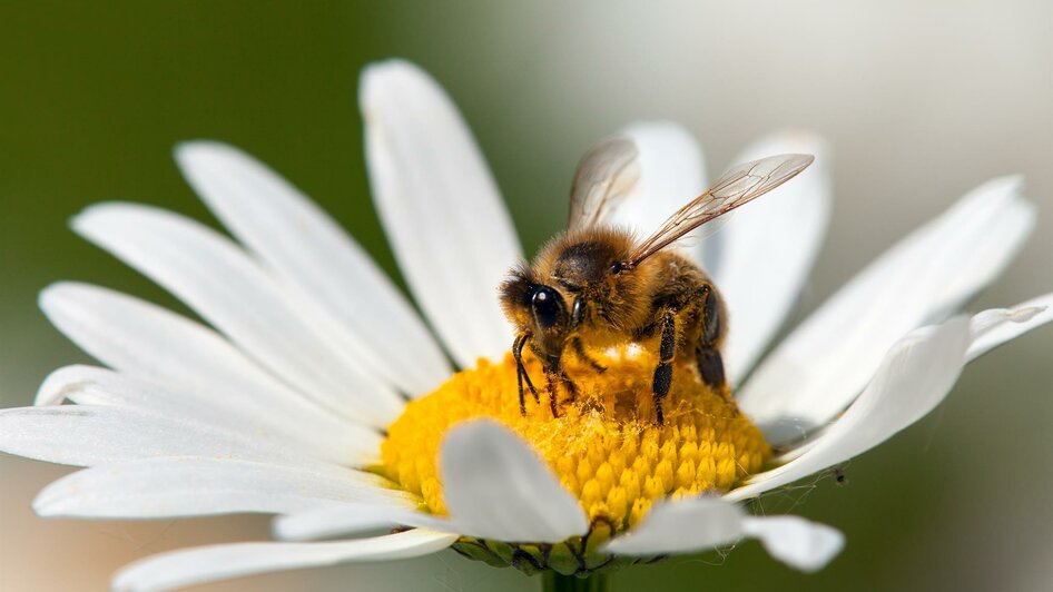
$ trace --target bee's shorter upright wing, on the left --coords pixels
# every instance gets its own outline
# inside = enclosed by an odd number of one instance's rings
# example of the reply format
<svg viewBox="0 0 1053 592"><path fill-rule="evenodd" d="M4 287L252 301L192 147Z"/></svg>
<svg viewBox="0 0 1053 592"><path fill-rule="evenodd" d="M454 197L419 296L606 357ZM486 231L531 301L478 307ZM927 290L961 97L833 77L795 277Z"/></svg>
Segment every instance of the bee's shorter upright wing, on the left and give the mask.
<svg viewBox="0 0 1053 592"><path fill-rule="evenodd" d="M570 190L568 228L606 221L640 179L639 151L626 136L593 146L578 165Z"/></svg>

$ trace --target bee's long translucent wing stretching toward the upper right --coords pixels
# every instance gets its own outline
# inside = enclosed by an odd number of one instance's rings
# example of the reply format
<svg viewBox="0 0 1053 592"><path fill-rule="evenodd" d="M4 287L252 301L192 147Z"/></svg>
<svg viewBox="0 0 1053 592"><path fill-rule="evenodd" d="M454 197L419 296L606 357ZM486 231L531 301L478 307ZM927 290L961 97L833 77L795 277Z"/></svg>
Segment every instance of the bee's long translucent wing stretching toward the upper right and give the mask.
<svg viewBox="0 0 1053 592"><path fill-rule="evenodd" d="M778 155L731 168L705 194L670 216L661 228L637 247L629 262L639 264L699 226L767 194L808 168L814 159L811 155Z"/></svg>

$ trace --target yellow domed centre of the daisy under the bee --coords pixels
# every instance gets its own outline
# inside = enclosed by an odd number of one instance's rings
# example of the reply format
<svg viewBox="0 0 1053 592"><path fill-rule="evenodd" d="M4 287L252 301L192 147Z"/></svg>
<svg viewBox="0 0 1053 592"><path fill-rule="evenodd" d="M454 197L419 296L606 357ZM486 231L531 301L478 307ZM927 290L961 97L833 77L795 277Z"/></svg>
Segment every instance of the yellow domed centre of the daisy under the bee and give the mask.
<svg viewBox="0 0 1053 592"><path fill-rule="evenodd" d="M722 493L758 472L771 455L760 431L739 411L725 387L715 391L690 365L675 365L663 399L663 426L655 420L653 354L594 354L598 373L573 357L564 363L577 387L574 401L558 386L553 418L541 364L524 359L540 404L528 392L519 407L515 362L480 359L435 392L413 401L388 428L377 472L420 495L426 510L443 515L437 453L446 431L465 420L490 417L528 442L575 495L604 539L636 525L651 504L666 497ZM613 532L611 532L611 529Z"/></svg>

